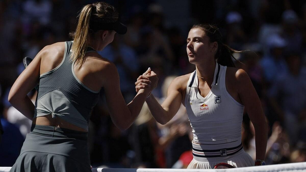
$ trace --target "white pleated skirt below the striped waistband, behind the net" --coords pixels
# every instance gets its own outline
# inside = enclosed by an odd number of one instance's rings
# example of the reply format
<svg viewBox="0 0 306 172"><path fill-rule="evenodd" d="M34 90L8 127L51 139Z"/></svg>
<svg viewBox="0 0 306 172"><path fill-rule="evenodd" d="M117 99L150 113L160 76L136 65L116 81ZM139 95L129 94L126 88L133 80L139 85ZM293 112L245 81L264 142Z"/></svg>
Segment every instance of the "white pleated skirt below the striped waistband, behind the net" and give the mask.
<svg viewBox="0 0 306 172"><path fill-rule="evenodd" d="M202 158L193 156L187 169L212 169L218 163L228 163L234 167L254 166L255 162L243 149L230 156Z"/></svg>

